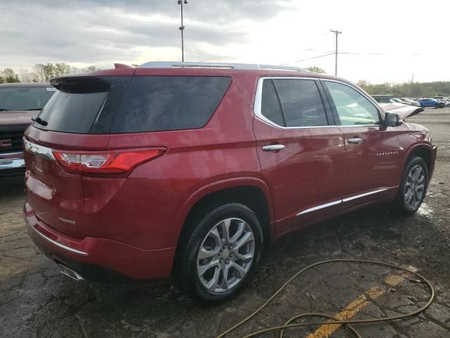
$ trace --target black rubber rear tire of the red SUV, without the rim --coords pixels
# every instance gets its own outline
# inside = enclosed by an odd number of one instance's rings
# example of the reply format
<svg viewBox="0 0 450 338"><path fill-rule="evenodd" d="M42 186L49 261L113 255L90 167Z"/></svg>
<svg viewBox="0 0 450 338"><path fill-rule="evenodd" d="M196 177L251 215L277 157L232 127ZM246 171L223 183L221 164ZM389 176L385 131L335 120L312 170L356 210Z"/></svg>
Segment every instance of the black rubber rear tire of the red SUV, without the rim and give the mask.
<svg viewBox="0 0 450 338"><path fill-rule="evenodd" d="M198 253L200 245L203 245L203 241L210 231L221 223L221 220L227 218L239 218L250 225L255 238L255 251L248 272L235 287L224 292L210 292L200 282L200 277L198 276ZM178 264L174 272L176 284L191 298L203 303L219 303L233 298L248 284L257 268L259 258L261 258L263 235L257 215L243 204L224 204L207 213L198 224L193 225L192 229L190 237L186 241L182 241L185 243L184 247L179 250L180 256L177 257Z"/></svg>

